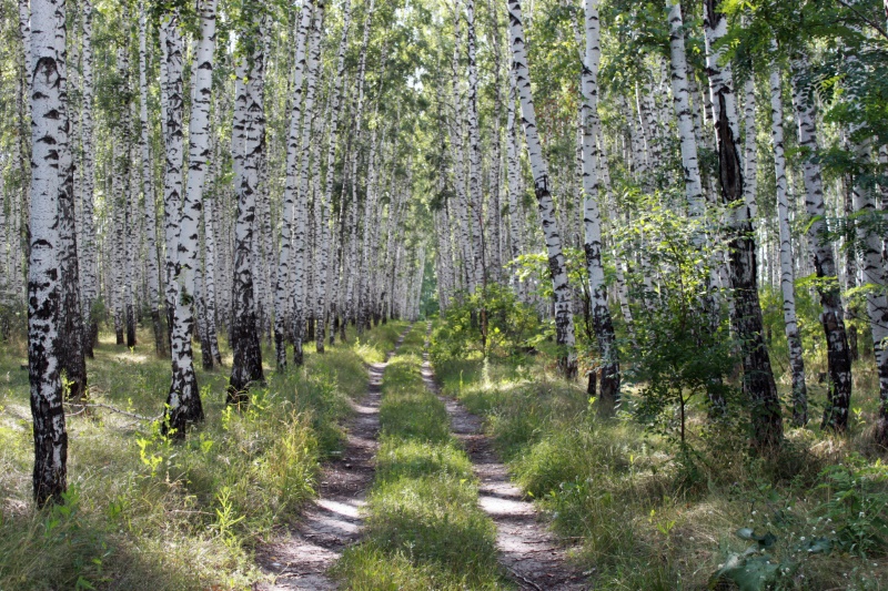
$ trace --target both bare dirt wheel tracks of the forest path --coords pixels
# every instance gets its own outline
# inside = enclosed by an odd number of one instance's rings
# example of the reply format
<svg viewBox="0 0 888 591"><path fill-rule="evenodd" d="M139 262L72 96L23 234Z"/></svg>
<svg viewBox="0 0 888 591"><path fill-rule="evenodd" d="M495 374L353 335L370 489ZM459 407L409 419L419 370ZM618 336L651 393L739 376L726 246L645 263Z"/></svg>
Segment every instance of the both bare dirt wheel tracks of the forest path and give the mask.
<svg viewBox="0 0 888 591"><path fill-rule="evenodd" d="M411 329L402 333L385 363L370 365L367 394L354 404L355 417L349 425L342 456L324 466L319 499L293 530L259 550L256 560L272 581L259 583L256 589L339 588L327 571L347 547L361 539L362 508L373 481L379 448L379 411L385 367ZM587 589L585 577L568 564L567 549L557 543L539 520L533 503L526 501L521 490L509 481L505 465L497 459L492 441L483 432L482 420L457 400L440 394L428 361L427 340L422 377L426 388L446 405L453 435L472 460L481 483L478 502L496 524L500 563L509 579L523 590Z"/></svg>

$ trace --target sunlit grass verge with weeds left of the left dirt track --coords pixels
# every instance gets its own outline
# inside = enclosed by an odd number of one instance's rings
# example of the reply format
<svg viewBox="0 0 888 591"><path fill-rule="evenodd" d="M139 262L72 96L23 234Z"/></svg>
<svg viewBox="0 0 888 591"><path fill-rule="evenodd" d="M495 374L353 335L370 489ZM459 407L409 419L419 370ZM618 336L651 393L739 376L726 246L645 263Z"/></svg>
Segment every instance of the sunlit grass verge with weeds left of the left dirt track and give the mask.
<svg viewBox="0 0 888 591"><path fill-rule="evenodd" d="M350 399L366 390L365 359L394 346L401 323L254 388L242 412L224 405L230 368L198 370L206 421L175 445L157 425L95 409L70 416L64 506L34 509L28 374L21 342L0 356L0 589L244 589L262 578L252 551L314 496L319 462L342 447ZM169 360L149 330L132 350L102 334L88 361L93 400L162 411ZM273 363L265 350L264 359ZM199 353L195 353L195 358Z"/></svg>

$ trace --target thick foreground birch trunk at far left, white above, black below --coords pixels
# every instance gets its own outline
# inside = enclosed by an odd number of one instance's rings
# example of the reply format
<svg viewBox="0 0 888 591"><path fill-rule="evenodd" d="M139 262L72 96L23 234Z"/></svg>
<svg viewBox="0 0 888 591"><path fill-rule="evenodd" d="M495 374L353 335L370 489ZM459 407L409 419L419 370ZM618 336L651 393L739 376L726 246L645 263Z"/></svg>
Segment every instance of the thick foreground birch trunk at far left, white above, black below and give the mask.
<svg viewBox="0 0 888 591"><path fill-rule="evenodd" d="M38 506L59 502L68 487L68 432L62 408L62 236L68 145L63 0L32 0L29 38L31 202L28 261L28 367L33 417L33 492ZM33 59L31 59L31 57Z"/></svg>

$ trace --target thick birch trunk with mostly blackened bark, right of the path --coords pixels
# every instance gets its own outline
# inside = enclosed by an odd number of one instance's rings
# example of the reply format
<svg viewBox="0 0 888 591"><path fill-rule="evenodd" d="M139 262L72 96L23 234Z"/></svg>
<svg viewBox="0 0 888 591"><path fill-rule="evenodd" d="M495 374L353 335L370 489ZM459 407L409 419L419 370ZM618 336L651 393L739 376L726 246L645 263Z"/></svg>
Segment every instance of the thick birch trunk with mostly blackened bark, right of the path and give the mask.
<svg viewBox="0 0 888 591"><path fill-rule="evenodd" d="M761 308L758 303L756 251L749 208L744 201L743 163L739 149L737 102L734 94L730 63L723 64L725 48L714 50L727 33L727 19L720 12L720 0L704 0L706 68L715 106L718 145L718 174L722 200L730 208L727 221L733 289L731 324L740 342L744 369L744 393L751 405L753 445L773 448L783 441L783 416L770 357L763 335Z"/></svg>

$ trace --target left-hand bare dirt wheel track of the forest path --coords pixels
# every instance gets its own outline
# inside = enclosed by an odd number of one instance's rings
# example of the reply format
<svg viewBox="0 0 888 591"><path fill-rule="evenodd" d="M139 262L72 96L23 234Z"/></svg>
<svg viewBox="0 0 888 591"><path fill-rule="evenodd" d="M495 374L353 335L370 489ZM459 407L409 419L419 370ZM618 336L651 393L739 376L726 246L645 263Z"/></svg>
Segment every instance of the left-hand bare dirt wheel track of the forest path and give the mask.
<svg viewBox="0 0 888 591"><path fill-rule="evenodd" d="M343 550L361 537L361 507L373 481L373 460L379 448L382 377L389 359L410 330L407 327L401 335L385 363L371 364L367 368L367 393L360 403L352 404L355 415L347 426L345 449L337 459L324 465L319 498L303 513L294 530L256 553L259 564L272 575L273 582L259 583L255 589L337 589L326 571Z"/></svg>

